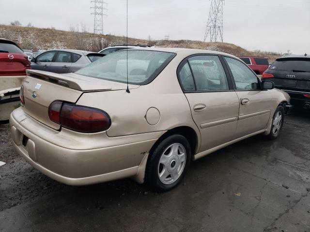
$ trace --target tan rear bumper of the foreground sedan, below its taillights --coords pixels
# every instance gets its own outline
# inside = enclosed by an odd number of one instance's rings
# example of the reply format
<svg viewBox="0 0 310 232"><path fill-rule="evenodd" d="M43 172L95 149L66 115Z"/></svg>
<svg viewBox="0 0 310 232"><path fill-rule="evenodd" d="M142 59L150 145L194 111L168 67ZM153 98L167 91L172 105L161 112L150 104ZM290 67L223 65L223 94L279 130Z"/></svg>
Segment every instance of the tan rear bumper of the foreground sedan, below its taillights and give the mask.
<svg viewBox="0 0 310 232"><path fill-rule="evenodd" d="M38 171L67 185L89 185L136 175L142 159L161 134L109 138L98 133L105 140L105 147L79 149L77 144L73 149L58 141L72 145L74 138L35 121L22 108L12 112L10 127L16 151ZM78 136L80 139L87 134Z"/></svg>

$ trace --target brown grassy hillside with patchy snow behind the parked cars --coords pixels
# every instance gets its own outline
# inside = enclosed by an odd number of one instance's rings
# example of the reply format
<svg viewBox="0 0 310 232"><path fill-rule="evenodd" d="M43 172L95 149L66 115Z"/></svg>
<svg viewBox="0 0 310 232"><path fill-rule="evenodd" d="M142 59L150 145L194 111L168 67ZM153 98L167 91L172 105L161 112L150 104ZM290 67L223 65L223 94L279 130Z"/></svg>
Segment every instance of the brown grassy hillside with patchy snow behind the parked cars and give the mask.
<svg viewBox="0 0 310 232"><path fill-rule="evenodd" d="M0 38L13 40L22 48L31 50L67 48L98 52L110 45L126 43L126 38L124 36L94 35L88 32L79 32L78 29L75 28L71 28L70 31L64 31L7 25L0 25ZM128 38L128 43L143 43L158 47L207 49L226 52L235 56L263 56L269 58L269 61L274 61L281 56L281 54L274 52L247 51L232 43L204 43L202 41L191 40L148 41L135 38Z"/></svg>

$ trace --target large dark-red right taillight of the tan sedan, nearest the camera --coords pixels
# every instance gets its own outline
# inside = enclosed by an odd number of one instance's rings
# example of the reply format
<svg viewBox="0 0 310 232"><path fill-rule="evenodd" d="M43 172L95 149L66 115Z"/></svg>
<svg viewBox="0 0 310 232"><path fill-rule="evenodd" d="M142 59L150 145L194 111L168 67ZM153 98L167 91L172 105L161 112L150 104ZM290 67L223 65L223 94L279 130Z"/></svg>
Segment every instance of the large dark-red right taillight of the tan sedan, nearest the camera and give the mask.
<svg viewBox="0 0 310 232"><path fill-rule="evenodd" d="M100 109L61 101L55 101L49 105L48 117L63 128L78 132L106 131L111 125L109 115Z"/></svg>

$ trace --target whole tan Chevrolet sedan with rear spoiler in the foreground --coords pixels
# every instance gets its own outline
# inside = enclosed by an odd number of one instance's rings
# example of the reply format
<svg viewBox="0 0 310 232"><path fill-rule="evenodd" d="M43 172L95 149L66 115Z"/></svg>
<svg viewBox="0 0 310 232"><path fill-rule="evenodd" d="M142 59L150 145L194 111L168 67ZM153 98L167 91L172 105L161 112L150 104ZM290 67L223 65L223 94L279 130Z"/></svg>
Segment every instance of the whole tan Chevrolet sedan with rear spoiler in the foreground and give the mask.
<svg viewBox="0 0 310 232"><path fill-rule="evenodd" d="M133 177L176 187L191 160L281 131L290 97L240 59L183 48L136 48L76 73L28 70L13 111L14 146L68 185Z"/></svg>

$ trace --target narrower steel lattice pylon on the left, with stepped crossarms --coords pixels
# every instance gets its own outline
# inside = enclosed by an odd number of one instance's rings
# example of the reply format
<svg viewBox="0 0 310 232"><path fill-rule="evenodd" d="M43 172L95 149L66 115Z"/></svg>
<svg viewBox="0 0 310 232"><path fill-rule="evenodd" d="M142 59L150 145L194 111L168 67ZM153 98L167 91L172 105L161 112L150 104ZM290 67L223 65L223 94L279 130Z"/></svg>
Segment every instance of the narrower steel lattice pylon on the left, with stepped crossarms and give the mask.
<svg viewBox="0 0 310 232"><path fill-rule="evenodd" d="M103 16L107 15L104 14L105 10L108 10L107 8L104 8L104 4L107 4L107 2L104 2L103 0L92 0L91 3L93 3L93 12L91 14L94 15L93 19L93 33L94 34L103 34Z"/></svg>

